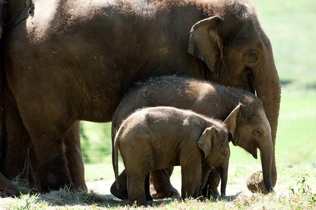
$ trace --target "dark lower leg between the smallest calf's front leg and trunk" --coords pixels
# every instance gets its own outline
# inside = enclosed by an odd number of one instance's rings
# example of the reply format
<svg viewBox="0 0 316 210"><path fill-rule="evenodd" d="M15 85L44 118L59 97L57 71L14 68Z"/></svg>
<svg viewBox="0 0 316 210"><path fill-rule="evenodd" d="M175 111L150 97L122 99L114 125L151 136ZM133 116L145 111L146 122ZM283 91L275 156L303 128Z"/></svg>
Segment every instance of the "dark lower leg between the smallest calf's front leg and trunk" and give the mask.
<svg viewBox="0 0 316 210"><path fill-rule="evenodd" d="M217 188L220 180L220 172L216 168L213 168L209 173L205 186L202 189L202 195L208 199L210 199L211 196L213 199L217 199L220 196Z"/></svg>

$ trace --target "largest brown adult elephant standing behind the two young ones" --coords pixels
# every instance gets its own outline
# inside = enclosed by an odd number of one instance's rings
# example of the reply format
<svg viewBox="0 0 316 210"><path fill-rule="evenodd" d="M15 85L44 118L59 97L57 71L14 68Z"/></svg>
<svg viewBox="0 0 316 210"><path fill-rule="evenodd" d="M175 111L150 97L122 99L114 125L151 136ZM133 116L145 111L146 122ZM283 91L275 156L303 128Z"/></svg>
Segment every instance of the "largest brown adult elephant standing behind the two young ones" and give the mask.
<svg viewBox="0 0 316 210"><path fill-rule="evenodd" d="M82 165L78 121L111 121L124 92L152 76L182 74L256 91L275 145L280 83L250 2L10 0L6 8L4 90L14 110L4 105L5 123L25 126L19 130L34 144L43 191L84 185L72 167ZM11 148L22 145L15 135L7 136ZM4 175L14 175L9 167L20 156L6 157Z"/></svg>

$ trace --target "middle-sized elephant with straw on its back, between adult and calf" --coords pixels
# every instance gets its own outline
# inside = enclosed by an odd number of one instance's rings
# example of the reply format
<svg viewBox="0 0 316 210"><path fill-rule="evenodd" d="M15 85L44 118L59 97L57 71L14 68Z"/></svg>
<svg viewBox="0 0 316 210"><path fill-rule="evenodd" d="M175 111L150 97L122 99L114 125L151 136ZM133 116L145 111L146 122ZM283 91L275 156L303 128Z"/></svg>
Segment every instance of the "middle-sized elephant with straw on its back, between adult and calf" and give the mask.
<svg viewBox="0 0 316 210"><path fill-rule="evenodd" d="M241 105L240 105L241 104ZM157 77L138 84L123 97L112 119L112 142L116 130L131 113L142 107L172 106L180 109L190 109L210 118L225 120L231 116L232 123L230 139L235 146L239 146L257 158L257 148L261 154L264 186L272 189L271 162L272 137L269 121L266 117L261 100L254 94L237 90L236 88L220 86L213 82L197 80L182 76ZM232 111L234 114L231 115ZM151 173L156 188L171 186L170 175L172 168ZM207 197L219 195L217 186L219 178L214 177L214 171L207 181L203 194ZM216 175L216 174L215 174ZM124 172L120 181L125 179ZM155 180L158 180L155 183ZM167 183L165 183L167 182ZM158 188L159 190L159 188ZM169 190L172 191L172 190ZM266 190L265 190L266 191ZM111 193L120 199L127 198L127 190L111 187ZM154 195L155 198L157 195ZM159 196L157 196L159 197Z"/></svg>

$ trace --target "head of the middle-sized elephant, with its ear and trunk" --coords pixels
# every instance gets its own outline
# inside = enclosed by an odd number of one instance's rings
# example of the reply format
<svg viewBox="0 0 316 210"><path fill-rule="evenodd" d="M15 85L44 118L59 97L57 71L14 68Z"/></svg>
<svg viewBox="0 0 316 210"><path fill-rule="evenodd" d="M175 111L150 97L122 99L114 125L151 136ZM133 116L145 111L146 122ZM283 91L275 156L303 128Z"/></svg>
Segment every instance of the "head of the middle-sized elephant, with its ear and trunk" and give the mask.
<svg viewBox="0 0 316 210"><path fill-rule="evenodd" d="M224 121L227 124L230 140L257 159L260 150L264 185L272 191L271 165L273 143L271 128L260 100L247 105L239 104Z"/></svg>

